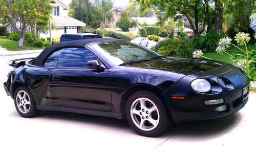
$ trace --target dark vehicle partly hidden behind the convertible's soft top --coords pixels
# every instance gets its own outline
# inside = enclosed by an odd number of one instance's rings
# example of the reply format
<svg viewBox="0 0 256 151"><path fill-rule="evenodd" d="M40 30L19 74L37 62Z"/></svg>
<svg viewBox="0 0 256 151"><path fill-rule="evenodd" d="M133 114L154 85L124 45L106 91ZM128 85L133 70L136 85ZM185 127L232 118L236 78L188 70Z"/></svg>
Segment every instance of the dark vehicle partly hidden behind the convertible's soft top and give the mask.
<svg viewBox="0 0 256 151"><path fill-rule="evenodd" d="M92 33L82 33L82 34L62 34L59 40L59 43L81 40L81 39L92 39L92 38L102 38L101 35L95 35Z"/></svg>

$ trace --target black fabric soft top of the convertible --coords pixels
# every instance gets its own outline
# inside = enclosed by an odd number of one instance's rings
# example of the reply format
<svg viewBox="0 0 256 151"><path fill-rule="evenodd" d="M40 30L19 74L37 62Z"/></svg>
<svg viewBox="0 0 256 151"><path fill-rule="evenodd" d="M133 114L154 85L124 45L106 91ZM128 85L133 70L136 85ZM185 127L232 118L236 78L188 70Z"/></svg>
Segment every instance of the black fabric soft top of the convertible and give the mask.
<svg viewBox="0 0 256 151"><path fill-rule="evenodd" d="M53 45L45 50L43 50L36 58L34 65L42 67L44 66L44 61L48 56L50 56L52 53L54 53L57 50L63 49L63 48L84 48L88 44L92 44L94 42L105 42L105 41L113 41L117 39L113 38L92 38L92 39L82 39L82 40L75 40L75 41L67 41L63 42L61 44Z"/></svg>

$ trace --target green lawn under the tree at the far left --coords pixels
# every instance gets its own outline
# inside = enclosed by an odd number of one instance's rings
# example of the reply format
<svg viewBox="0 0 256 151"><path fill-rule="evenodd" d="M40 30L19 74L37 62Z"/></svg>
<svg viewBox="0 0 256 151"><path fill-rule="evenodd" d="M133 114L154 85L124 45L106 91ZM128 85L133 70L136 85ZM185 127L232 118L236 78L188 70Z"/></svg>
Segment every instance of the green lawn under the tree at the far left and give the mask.
<svg viewBox="0 0 256 151"><path fill-rule="evenodd" d="M42 49L42 48L38 48L38 47L29 46L29 45L26 45L26 44L24 44L24 47L22 49L20 49L20 48L18 48L18 42L17 41L7 39L3 36L0 37L0 46L2 46L3 48L5 48L9 51Z"/></svg>

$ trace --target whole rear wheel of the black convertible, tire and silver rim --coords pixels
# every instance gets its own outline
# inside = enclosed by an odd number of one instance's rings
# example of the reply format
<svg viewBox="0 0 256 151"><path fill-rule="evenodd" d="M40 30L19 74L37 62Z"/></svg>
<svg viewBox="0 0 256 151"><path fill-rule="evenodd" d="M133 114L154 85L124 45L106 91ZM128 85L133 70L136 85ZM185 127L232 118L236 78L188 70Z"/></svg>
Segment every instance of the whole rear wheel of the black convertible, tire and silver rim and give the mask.
<svg viewBox="0 0 256 151"><path fill-rule="evenodd" d="M32 118L40 113L36 108L36 103L32 93L24 86L18 87L15 91L14 104L18 114L22 117Z"/></svg>

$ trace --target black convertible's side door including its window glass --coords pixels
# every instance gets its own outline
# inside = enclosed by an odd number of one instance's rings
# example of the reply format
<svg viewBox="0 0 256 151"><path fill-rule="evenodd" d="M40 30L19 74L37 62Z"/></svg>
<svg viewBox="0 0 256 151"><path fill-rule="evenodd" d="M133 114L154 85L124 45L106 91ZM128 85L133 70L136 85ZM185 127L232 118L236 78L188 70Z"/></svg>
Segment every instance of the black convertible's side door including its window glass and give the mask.
<svg viewBox="0 0 256 151"><path fill-rule="evenodd" d="M112 110L109 70L86 67L88 61L99 59L93 52L86 48L65 48L52 55L58 56L49 81L53 105Z"/></svg>

